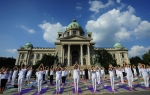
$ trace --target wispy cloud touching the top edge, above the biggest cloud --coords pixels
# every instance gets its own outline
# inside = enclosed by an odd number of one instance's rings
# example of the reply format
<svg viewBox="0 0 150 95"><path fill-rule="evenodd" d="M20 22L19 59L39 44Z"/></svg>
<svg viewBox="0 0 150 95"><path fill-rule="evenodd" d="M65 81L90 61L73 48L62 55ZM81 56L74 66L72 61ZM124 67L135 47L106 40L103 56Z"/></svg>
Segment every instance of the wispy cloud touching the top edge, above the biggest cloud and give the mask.
<svg viewBox="0 0 150 95"><path fill-rule="evenodd" d="M107 8L110 5L114 4L114 2L112 0L108 0L108 3L106 3L106 4L103 4L101 1L96 1L96 0L89 1L88 3L90 4L89 10L93 11L95 13L99 13L100 9Z"/></svg>

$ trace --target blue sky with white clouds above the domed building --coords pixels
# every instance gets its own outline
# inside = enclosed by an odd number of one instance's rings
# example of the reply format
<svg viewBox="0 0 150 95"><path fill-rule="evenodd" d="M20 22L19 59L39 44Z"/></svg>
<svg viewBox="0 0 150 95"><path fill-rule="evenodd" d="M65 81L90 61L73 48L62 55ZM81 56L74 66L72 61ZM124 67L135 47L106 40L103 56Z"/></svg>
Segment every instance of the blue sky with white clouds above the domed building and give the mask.
<svg viewBox="0 0 150 95"><path fill-rule="evenodd" d="M55 47L58 31L76 19L92 32L95 47L128 49L129 57L150 49L150 0L0 0L0 57L17 49Z"/></svg>

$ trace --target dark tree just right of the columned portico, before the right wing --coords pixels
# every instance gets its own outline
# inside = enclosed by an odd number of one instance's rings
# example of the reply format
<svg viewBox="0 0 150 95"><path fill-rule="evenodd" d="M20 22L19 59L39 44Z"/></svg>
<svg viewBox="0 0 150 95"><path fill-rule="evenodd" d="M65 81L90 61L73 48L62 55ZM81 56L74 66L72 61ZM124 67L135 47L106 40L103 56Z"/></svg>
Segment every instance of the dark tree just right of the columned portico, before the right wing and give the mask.
<svg viewBox="0 0 150 95"><path fill-rule="evenodd" d="M116 59L112 57L110 53L108 53L107 50L99 50L98 53L99 55L99 60L100 64L107 70L109 64L111 63L113 66L116 66Z"/></svg>

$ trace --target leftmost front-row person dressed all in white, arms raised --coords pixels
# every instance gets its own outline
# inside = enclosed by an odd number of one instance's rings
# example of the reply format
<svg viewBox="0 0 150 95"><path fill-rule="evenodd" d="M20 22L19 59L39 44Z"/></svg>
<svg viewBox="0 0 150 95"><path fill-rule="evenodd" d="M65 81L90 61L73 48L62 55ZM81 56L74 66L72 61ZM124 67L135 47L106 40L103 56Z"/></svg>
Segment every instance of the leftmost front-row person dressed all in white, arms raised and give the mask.
<svg viewBox="0 0 150 95"><path fill-rule="evenodd" d="M26 65L22 64L20 71L19 71L19 74L18 74L19 75L19 77L18 77L18 94L20 94L22 91L22 85L23 85L26 71L27 71Z"/></svg>

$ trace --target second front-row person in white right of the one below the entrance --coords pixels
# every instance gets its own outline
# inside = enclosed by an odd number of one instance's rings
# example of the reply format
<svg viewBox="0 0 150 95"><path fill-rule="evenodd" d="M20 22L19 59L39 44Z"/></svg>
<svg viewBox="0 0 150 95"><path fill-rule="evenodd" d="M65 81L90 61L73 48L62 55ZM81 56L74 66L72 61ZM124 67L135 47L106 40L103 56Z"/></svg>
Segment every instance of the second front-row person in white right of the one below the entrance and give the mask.
<svg viewBox="0 0 150 95"><path fill-rule="evenodd" d="M111 88L112 88L112 91L114 92L114 67L109 64L109 77L110 77L110 82L111 82Z"/></svg>

